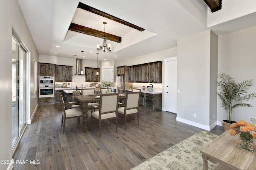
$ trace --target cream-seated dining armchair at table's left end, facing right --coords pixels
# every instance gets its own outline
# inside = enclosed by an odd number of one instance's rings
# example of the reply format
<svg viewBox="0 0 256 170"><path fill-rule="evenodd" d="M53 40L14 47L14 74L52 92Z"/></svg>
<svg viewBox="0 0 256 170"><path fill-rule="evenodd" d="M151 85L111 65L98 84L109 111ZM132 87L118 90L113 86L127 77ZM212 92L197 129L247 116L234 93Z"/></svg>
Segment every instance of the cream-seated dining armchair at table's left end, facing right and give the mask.
<svg viewBox="0 0 256 170"><path fill-rule="evenodd" d="M62 118L61 118L61 127L63 126L63 133L65 132L65 124L66 124L66 119L72 119L72 118L77 118L78 123L80 123L80 117L83 116L82 108L81 107L72 107L68 103L65 103L63 100L63 96L60 92L60 104L62 108ZM66 109L70 108L70 109Z"/></svg>

